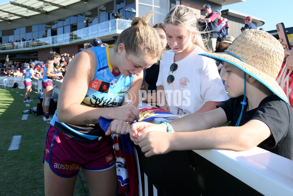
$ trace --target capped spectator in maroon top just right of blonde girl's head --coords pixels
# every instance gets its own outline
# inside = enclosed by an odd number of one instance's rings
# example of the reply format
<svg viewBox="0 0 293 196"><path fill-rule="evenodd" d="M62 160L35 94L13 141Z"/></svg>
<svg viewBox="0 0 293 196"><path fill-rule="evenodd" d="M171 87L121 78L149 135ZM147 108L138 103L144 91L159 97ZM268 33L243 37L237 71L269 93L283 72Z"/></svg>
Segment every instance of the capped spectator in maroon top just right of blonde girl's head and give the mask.
<svg viewBox="0 0 293 196"><path fill-rule="evenodd" d="M208 24L209 31L209 39L208 39L208 47L210 51L216 50L216 41L218 37L218 16L216 13L211 11L211 7L209 4L204 4L204 8L201 9L201 11L204 11L207 16L205 19L200 19L200 21L203 22L203 26Z"/></svg>

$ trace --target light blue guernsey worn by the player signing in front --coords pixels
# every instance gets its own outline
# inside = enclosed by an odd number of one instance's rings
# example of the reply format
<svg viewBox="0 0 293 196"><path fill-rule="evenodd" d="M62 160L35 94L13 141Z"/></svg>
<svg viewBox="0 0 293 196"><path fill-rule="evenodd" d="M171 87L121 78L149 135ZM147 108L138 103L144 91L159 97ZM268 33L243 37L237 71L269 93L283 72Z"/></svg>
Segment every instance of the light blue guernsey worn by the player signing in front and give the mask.
<svg viewBox="0 0 293 196"><path fill-rule="evenodd" d="M109 47L113 46L90 48L95 52L97 68L93 80L89 83L82 105L99 108L121 106L130 88L133 76L125 77L115 74L109 60ZM84 126L60 122L57 117L57 111L50 123L67 137L81 142L93 142L98 137L105 135L99 124Z"/></svg>

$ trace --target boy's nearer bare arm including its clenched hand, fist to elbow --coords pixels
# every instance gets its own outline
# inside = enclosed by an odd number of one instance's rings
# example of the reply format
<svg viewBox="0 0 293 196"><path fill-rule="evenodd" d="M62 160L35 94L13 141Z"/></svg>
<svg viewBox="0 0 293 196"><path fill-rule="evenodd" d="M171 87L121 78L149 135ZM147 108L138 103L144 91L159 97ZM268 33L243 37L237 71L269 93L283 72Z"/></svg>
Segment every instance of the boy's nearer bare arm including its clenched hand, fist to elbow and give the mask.
<svg viewBox="0 0 293 196"><path fill-rule="evenodd" d="M176 123L176 126L179 125ZM272 135L260 120L250 120L240 127L218 127L195 132L172 133L152 131L138 137L136 144L146 157L170 151L227 149L246 151ZM164 138L164 139L162 139Z"/></svg>

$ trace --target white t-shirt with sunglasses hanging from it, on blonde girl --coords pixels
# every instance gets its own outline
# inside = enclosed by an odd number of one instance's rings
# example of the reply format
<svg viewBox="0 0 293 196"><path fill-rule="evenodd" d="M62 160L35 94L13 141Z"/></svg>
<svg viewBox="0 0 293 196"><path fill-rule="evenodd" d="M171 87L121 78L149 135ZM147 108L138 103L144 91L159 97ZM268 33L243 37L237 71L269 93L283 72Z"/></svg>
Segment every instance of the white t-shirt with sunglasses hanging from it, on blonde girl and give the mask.
<svg viewBox="0 0 293 196"><path fill-rule="evenodd" d="M156 85L164 86L166 100L173 114L177 114L178 109L186 114L192 114L207 101L228 99L215 61L199 56L198 54L201 53L205 51L196 46L186 58L175 62L178 68L173 73L170 72L175 78L170 84L167 83L167 77L170 65L174 62L175 53L172 50L167 51L161 59Z"/></svg>

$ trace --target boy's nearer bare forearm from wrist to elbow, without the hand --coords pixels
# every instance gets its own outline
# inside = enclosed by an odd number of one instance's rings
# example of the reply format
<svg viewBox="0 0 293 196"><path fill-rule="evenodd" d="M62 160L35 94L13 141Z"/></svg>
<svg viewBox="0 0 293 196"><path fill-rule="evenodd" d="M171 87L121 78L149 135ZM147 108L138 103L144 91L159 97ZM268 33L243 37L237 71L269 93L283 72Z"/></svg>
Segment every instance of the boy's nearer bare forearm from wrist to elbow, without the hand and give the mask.
<svg viewBox="0 0 293 196"><path fill-rule="evenodd" d="M271 135L270 128L264 122L250 120L240 127L228 126L196 132L174 133L171 149L228 149L246 151L257 146Z"/></svg>

